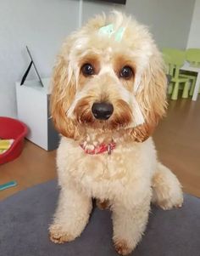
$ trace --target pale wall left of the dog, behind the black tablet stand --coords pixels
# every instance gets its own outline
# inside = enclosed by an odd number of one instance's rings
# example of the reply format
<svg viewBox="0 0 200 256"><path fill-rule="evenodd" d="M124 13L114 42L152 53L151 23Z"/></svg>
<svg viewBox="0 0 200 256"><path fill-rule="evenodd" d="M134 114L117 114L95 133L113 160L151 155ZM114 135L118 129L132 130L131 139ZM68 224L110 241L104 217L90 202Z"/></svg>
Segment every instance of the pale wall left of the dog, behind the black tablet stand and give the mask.
<svg viewBox="0 0 200 256"><path fill-rule="evenodd" d="M14 82L30 61L25 45L42 77L49 77L64 37L78 26L78 11L78 0L1 0L0 116L16 117Z"/></svg>

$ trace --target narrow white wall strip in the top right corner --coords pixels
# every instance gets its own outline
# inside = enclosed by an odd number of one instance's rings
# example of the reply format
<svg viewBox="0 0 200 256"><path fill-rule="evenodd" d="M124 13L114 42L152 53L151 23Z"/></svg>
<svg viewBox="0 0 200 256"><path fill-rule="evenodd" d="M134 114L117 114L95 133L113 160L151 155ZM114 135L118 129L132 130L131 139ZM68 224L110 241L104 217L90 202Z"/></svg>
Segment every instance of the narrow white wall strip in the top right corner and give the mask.
<svg viewBox="0 0 200 256"><path fill-rule="evenodd" d="M196 0L187 48L200 48L200 0Z"/></svg>

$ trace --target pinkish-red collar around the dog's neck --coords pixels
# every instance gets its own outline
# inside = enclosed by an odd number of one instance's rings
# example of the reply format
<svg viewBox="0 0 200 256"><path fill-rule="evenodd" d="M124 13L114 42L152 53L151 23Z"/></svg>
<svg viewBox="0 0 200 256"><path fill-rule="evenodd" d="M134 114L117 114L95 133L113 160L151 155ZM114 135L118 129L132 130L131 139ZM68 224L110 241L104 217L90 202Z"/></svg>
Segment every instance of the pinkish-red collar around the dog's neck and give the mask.
<svg viewBox="0 0 200 256"><path fill-rule="evenodd" d="M81 144L81 148L85 151L86 154L89 154L89 155L97 155L97 154L104 153L106 151L108 152L108 155L111 155L115 147L116 147L116 143L111 142L108 145L100 144L100 145L97 145L93 150L88 150L86 149L86 146Z"/></svg>

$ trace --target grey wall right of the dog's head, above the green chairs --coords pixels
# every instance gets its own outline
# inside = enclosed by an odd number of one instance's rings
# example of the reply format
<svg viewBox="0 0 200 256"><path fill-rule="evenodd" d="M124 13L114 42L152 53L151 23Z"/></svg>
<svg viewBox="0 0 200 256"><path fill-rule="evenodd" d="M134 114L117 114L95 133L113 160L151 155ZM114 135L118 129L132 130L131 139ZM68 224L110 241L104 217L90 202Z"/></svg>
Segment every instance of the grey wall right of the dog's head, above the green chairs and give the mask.
<svg viewBox="0 0 200 256"><path fill-rule="evenodd" d="M160 48L186 48L195 0L127 0L126 11L149 26Z"/></svg>

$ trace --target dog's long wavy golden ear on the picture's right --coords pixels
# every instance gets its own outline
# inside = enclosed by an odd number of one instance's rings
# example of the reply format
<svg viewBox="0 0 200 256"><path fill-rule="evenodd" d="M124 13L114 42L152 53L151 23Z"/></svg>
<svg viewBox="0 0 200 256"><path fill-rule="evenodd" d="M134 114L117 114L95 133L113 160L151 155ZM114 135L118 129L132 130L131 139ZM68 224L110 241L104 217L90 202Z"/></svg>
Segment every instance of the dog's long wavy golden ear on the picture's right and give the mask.
<svg viewBox="0 0 200 256"><path fill-rule="evenodd" d="M136 141L142 142L151 136L159 118L164 116L167 106L166 88L163 58L156 50L142 74L140 89L136 96L145 119L142 125L131 130L131 136Z"/></svg>

